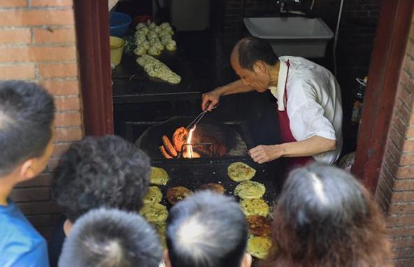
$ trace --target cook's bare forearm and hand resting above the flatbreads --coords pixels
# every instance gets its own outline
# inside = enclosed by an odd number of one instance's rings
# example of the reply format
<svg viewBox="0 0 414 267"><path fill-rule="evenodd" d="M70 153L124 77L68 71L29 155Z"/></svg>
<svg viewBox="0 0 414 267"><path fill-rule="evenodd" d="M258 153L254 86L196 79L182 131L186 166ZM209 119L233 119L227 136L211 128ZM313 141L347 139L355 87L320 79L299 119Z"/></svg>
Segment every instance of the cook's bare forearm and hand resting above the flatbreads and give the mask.
<svg viewBox="0 0 414 267"><path fill-rule="evenodd" d="M306 140L280 145L257 145L249 150L253 161L262 164L280 157L306 157L336 149L336 140L312 136Z"/></svg>

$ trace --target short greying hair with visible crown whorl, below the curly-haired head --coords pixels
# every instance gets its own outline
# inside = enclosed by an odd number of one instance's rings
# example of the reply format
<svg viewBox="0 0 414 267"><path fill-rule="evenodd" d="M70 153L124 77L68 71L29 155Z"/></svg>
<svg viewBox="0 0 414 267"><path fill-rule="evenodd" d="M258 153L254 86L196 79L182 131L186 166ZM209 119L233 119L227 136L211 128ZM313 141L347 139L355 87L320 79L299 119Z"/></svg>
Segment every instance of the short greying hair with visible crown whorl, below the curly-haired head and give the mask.
<svg viewBox="0 0 414 267"><path fill-rule="evenodd" d="M157 267L161 260L157 233L143 217L100 208L73 225L59 267Z"/></svg>

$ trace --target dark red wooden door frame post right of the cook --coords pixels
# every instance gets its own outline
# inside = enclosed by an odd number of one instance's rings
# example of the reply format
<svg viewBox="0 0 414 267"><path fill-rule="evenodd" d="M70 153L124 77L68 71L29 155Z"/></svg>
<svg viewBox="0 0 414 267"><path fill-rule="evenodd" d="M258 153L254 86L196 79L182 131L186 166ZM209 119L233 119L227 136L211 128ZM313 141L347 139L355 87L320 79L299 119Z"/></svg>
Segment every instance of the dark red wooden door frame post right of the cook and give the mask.
<svg viewBox="0 0 414 267"><path fill-rule="evenodd" d="M414 1L383 0L352 173L374 193L390 131Z"/></svg>

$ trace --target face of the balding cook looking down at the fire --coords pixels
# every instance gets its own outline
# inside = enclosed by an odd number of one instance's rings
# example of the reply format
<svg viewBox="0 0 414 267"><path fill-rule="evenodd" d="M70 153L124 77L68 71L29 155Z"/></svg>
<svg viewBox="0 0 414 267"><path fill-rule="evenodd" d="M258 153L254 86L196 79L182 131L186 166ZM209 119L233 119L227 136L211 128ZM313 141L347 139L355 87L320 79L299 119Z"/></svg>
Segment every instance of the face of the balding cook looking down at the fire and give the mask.
<svg viewBox="0 0 414 267"><path fill-rule="evenodd" d="M269 87L270 77L266 71L254 66L253 71L242 68L238 64L238 52L233 50L230 58L231 67L234 69L238 77L241 78L245 85L249 85L257 92L266 92Z"/></svg>

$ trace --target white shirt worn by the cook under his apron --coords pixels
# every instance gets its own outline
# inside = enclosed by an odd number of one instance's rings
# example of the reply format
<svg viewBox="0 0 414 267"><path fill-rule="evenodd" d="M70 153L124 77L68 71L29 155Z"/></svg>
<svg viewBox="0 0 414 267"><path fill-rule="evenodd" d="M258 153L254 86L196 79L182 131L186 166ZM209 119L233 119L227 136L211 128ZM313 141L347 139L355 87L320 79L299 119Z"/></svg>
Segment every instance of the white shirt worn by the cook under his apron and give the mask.
<svg viewBox="0 0 414 267"><path fill-rule="evenodd" d="M298 141L312 136L336 140L335 150L313 155L316 161L334 163L343 145L341 89L336 78L327 68L302 57L285 56L279 60L278 86L269 88L278 99L278 110L285 110L286 83L287 117L293 137Z"/></svg>

